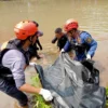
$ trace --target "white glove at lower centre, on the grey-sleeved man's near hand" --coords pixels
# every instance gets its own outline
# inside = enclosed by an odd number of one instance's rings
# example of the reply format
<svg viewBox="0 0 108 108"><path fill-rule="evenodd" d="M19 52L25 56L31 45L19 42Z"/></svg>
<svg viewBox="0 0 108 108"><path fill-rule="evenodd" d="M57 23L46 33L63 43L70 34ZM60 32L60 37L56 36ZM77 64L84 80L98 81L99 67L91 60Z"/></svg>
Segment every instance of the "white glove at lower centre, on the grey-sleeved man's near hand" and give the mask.
<svg viewBox="0 0 108 108"><path fill-rule="evenodd" d="M43 96L43 98L46 100L46 102L49 102L49 100L52 100L53 99L53 96L52 96L52 94L51 94L51 92L49 91L49 90L45 90L45 89L41 89L41 91L40 91L40 93L39 93L40 95L42 95Z"/></svg>

